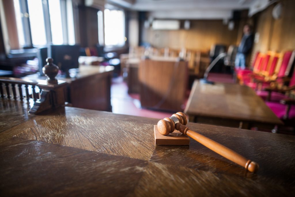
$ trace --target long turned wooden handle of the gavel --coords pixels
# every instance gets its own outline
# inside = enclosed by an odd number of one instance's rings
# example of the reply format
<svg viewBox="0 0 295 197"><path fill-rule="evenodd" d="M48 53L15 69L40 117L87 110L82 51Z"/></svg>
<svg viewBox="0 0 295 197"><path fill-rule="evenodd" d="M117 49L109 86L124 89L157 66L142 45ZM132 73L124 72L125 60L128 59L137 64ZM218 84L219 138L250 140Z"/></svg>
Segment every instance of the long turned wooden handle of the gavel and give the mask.
<svg viewBox="0 0 295 197"><path fill-rule="evenodd" d="M179 126L176 126L179 127ZM237 163L238 165L245 167L246 170L249 170L250 172L256 172L259 168L258 164L255 162L252 162L249 159L246 159L242 155L236 153L235 151L223 146L222 144L219 144L218 142L209 139L200 133L197 133L195 131L190 130L184 125L180 126L179 131L181 133L184 133L194 140L198 141L199 143L203 144L207 148L211 149L212 151L220 154L221 156L231 160L232 162ZM178 130L178 129L177 129Z"/></svg>

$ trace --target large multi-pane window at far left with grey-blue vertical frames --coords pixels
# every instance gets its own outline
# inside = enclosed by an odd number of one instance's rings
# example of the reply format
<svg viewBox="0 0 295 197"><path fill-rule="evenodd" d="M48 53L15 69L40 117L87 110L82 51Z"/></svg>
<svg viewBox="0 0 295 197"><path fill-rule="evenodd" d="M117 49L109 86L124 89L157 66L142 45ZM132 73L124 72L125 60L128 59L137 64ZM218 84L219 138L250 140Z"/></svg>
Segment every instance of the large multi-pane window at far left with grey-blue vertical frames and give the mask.
<svg viewBox="0 0 295 197"><path fill-rule="evenodd" d="M75 44L72 0L14 0L20 47Z"/></svg>

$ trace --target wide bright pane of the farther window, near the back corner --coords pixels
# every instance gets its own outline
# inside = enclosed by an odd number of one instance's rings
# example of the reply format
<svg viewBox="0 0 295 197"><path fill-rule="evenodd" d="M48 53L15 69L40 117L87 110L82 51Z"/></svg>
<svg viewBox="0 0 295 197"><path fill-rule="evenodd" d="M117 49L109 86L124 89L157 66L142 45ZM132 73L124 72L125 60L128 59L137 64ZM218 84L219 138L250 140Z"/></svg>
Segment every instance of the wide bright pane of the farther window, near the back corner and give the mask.
<svg viewBox="0 0 295 197"><path fill-rule="evenodd" d="M122 10L104 10L104 42L106 46L124 46L125 15Z"/></svg>

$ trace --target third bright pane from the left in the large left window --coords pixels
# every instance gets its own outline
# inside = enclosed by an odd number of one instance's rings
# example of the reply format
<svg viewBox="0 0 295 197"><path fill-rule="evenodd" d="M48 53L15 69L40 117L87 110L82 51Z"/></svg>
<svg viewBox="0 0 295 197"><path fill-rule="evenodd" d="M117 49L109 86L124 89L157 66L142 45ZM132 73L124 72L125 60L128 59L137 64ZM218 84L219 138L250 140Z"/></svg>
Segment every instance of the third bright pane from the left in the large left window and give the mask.
<svg viewBox="0 0 295 197"><path fill-rule="evenodd" d="M60 0L48 0L51 38L54 45L63 44L63 27L61 24Z"/></svg>

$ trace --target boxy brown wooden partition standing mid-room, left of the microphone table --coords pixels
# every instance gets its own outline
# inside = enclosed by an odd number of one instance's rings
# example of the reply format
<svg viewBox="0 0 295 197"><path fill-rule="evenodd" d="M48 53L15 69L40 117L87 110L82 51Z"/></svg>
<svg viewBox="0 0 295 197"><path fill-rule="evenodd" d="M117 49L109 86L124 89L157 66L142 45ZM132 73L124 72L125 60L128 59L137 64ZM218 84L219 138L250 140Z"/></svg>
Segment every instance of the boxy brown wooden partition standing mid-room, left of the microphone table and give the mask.
<svg viewBox="0 0 295 197"><path fill-rule="evenodd" d="M144 108L182 111L188 80L187 61L157 58L140 61L140 101Z"/></svg>

